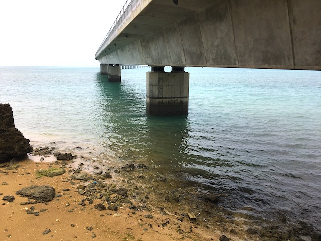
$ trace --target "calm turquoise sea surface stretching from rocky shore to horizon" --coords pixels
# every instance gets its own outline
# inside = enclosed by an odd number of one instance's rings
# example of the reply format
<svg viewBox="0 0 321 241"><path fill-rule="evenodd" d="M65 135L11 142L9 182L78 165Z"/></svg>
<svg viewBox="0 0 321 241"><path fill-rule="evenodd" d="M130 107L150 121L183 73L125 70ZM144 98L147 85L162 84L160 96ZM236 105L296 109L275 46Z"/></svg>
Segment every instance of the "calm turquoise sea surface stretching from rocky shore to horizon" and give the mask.
<svg viewBox="0 0 321 241"><path fill-rule="evenodd" d="M320 71L186 68L189 114L150 117L149 70L0 67L0 103L34 147L179 170L227 208L321 226Z"/></svg>

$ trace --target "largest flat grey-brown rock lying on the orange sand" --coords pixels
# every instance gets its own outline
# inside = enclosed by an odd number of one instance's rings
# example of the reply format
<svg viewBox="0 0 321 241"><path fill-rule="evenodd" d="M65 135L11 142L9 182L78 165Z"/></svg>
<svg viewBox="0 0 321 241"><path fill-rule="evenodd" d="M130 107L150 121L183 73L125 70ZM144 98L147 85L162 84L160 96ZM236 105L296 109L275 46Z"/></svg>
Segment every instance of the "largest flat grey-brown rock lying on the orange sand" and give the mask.
<svg viewBox="0 0 321 241"><path fill-rule="evenodd" d="M22 197L29 197L30 199L35 199L38 202L48 202L51 201L56 193L55 189L50 186L36 186L32 185L25 187L16 192L17 195Z"/></svg>

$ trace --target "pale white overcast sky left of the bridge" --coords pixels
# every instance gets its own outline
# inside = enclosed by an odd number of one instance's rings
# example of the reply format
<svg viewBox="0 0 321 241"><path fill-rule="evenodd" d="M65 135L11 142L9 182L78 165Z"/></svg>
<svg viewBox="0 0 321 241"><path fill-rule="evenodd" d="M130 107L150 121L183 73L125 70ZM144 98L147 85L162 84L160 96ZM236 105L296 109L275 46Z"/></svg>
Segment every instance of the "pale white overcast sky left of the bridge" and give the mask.
<svg viewBox="0 0 321 241"><path fill-rule="evenodd" d="M1 0L0 66L99 67L126 0Z"/></svg>

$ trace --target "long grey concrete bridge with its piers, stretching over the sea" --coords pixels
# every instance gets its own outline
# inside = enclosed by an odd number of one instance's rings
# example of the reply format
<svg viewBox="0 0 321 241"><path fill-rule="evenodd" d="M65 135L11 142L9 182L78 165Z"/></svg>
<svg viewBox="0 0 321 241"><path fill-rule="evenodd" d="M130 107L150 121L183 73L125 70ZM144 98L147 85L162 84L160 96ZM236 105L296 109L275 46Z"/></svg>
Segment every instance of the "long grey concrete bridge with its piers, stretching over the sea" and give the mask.
<svg viewBox="0 0 321 241"><path fill-rule="evenodd" d="M95 58L151 66L147 113L186 114L186 66L321 70L321 1L127 0Z"/></svg>

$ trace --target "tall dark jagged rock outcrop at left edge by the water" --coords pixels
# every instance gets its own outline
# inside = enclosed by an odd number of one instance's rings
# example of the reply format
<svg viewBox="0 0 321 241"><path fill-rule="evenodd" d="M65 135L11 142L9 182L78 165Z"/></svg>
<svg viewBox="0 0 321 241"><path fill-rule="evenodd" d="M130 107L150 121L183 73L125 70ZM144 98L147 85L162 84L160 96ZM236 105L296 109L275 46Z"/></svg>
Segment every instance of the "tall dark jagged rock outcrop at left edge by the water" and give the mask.
<svg viewBox="0 0 321 241"><path fill-rule="evenodd" d="M10 105L0 104L0 163L25 157L32 150L29 139L15 128Z"/></svg>

